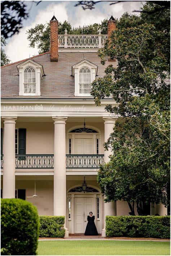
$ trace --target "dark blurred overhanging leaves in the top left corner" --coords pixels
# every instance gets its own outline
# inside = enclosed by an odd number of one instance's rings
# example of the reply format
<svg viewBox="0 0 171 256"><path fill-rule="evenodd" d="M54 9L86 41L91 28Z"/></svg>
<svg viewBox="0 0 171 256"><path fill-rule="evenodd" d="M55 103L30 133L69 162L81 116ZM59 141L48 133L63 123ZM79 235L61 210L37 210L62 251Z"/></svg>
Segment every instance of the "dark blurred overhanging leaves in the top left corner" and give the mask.
<svg viewBox="0 0 171 256"><path fill-rule="evenodd" d="M32 1L38 5L41 1ZM1 1L1 35L8 38L18 34L22 22L29 17L25 1Z"/></svg>

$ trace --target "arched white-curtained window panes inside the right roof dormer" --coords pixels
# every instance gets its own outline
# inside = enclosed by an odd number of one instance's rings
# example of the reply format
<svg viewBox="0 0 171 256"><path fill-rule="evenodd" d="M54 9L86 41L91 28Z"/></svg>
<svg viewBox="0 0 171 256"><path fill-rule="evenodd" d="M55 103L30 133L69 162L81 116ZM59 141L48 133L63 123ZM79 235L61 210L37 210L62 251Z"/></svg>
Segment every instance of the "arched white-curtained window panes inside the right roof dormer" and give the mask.
<svg viewBox="0 0 171 256"><path fill-rule="evenodd" d="M79 93L90 94L91 90L91 71L87 67L83 67L79 72Z"/></svg>

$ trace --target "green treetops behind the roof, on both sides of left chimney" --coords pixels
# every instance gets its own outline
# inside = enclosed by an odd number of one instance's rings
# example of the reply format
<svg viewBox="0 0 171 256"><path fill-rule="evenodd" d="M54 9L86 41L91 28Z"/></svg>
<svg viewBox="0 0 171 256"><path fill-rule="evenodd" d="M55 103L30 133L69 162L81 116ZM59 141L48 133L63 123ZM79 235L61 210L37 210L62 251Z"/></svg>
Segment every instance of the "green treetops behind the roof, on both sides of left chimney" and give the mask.
<svg viewBox="0 0 171 256"><path fill-rule="evenodd" d="M89 35L97 34L98 29L101 29L102 34L107 34L107 22L108 19L104 19L101 24L87 25L83 27L71 27L71 24L67 21L58 24L58 34L65 34L65 29L67 29L67 34L69 35ZM27 30L27 39L30 41L30 47L34 48L37 45L39 49L39 54L48 52L50 48L50 26L49 23L37 24L34 28Z"/></svg>

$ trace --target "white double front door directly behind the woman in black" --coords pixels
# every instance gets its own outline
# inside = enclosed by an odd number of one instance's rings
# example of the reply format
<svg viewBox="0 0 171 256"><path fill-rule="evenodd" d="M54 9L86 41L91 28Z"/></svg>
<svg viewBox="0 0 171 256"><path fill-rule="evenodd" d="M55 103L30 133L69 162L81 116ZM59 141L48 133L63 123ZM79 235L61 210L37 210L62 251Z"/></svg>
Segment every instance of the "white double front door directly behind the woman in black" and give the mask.
<svg viewBox="0 0 171 256"><path fill-rule="evenodd" d="M93 212L93 198L75 198L75 233L85 232L89 212Z"/></svg>

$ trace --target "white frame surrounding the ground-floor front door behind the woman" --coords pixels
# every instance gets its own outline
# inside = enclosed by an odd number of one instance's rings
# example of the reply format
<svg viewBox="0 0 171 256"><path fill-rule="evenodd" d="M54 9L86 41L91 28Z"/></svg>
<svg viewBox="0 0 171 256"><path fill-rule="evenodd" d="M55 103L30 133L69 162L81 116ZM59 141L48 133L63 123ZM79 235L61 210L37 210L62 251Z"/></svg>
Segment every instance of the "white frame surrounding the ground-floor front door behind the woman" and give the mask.
<svg viewBox="0 0 171 256"><path fill-rule="evenodd" d="M91 186L91 185L90 185ZM76 186L74 186L76 187ZM94 186L91 186L94 187ZM71 189L71 188L70 188ZM69 218L69 198L71 205L71 213ZM67 193L67 206L66 206L66 225L70 234L75 234L75 198L93 198L92 212L95 215L95 224L97 231L101 234L102 230L102 194L100 192L68 192ZM99 198L99 218L97 218L97 198Z"/></svg>

